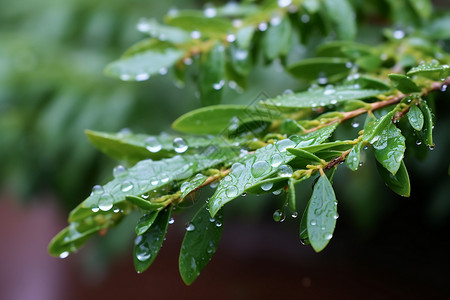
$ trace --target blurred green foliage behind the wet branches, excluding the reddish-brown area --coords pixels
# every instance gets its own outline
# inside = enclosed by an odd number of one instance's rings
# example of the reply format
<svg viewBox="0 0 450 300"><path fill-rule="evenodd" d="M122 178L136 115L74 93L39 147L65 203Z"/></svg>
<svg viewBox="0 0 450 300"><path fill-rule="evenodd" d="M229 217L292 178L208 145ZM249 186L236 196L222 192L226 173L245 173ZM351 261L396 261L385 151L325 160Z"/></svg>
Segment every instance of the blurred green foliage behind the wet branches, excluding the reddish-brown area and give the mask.
<svg viewBox="0 0 450 300"><path fill-rule="evenodd" d="M412 32L412 26L424 25L426 35L438 39L447 52L450 50L447 1L435 1L434 14L443 17L428 23L419 20L417 11L405 4L407 0L352 2L359 12L359 41L374 45L381 42L381 28L387 26ZM67 212L89 194L92 185L112 177L114 162L89 145L85 129L129 128L158 134L168 130L182 113L199 107L200 100L189 79L182 88L173 83L170 72L146 82L123 82L106 77L103 69L143 38L136 30L140 18L162 21L172 7L204 5L205 1L193 0L4 0L2 7L7 9L0 10L1 188L24 202L49 192L57 195ZM312 56L318 43L333 38L330 29L314 31L303 46L294 46L294 54L298 58ZM227 88L223 102L251 103L286 89L304 88L284 73L279 61L267 66L260 63L252 70L248 86L241 93ZM406 161L412 177L412 198L394 196L385 188L372 161L365 162L367 167L356 173L339 168L335 186L342 201L342 218L334 241L384 235L398 222L410 224L417 239L427 228L437 228L436 235L449 228L450 94L447 91L431 97L437 98L436 150L428 155L421 153L427 150L421 146L407 150L420 158ZM355 129L348 124L343 130ZM298 193L300 201L306 204L310 188L302 187ZM256 201L261 203L260 199ZM255 210L256 201L242 201L243 215L272 222L276 204ZM256 211L259 214L255 215ZM297 230L296 225L292 230ZM122 231L125 235L132 233L128 229ZM106 249L114 248L110 247L112 240L103 239L102 249L95 254L97 258ZM114 245L119 247L118 244L131 245L123 241ZM93 268L91 263L88 265Z"/></svg>

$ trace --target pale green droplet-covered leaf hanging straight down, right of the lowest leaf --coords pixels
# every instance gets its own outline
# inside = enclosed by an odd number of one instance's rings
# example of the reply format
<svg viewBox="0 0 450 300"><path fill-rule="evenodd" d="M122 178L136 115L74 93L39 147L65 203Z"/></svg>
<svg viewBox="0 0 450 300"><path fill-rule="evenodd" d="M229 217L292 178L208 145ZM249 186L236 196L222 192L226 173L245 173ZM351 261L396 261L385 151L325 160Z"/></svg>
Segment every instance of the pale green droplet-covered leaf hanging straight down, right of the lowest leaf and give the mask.
<svg viewBox="0 0 450 300"><path fill-rule="evenodd" d="M333 187L328 177L321 175L314 185L313 194L302 217L300 239L304 243L310 243L316 252L322 251L333 236L337 216Z"/></svg>

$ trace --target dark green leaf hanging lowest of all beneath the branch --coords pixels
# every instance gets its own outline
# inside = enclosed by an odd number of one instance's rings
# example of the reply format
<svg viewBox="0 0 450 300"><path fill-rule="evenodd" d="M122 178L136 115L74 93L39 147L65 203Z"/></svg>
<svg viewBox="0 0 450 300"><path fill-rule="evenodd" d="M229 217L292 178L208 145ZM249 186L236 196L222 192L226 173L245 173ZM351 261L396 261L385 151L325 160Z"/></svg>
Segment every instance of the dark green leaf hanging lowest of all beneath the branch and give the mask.
<svg viewBox="0 0 450 300"><path fill-rule="evenodd" d="M181 245L179 269L184 283L192 284L206 267L219 245L223 214L211 218L203 205L186 228Z"/></svg>

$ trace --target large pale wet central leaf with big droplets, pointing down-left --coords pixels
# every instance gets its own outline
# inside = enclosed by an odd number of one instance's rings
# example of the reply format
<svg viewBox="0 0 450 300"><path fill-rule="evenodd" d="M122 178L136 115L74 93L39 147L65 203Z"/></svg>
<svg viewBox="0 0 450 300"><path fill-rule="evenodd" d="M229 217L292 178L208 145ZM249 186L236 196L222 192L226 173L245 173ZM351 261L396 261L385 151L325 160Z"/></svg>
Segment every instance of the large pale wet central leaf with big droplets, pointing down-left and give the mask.
<svg viewBox="0 0 450 300"><path fill-rule="evenodd" d="M244 192L260 186L261 182L275 174L278 177L289 178L292 168L288 165L294 155L287 152L287 148L302 148L323 143L336 128L337 124L321 128L317 131L284 139L275 144L269 144L247 155L239 163L231 167L230 173L223 178L214 195L209 200L211 216L214 216L222 206L239 197Z"/></svg>

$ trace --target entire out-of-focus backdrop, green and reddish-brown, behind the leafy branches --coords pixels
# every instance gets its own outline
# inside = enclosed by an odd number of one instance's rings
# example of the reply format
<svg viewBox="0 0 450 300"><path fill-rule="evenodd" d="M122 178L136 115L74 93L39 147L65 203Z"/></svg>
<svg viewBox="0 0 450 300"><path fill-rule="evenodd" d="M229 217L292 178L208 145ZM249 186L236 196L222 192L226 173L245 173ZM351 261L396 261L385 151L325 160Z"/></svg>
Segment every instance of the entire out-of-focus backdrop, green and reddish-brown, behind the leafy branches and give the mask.
<svg viewBox="0 0 450 300"><path fill-rule="evenodd" d="M364 10L371 7L353 2ZM108 180L116 164L89 145L85 129L128 128L157 134L170 130L182 113L200 106L192 81L178 88L170 72L132 83L106 77L103 68L144 38L136 30L140 18L161 20L172 7L204 4L2 1L0 299L143 298L156 290L156 299L450 295L446 283L450 278L448 91L435 95L436 149L424 159L406 161L411 198L396 197L384 186L369 153L360 171L339 168L335 187L341 217L329 249L322 254L301 246L298 220L272 221L281 199L248 197L229 209L222 245L190 288L181 283L176 265L183 224L169 230L160 257L144 275L132 269L133 218L65 261L46 255L47 243L65 226L68 211L94 184ZM437 10L440 13L450 6L448 1L436 5L442 8ZM360 37L373 43L379 38L379 34ZM450 49L448 40L441 43ZM311 51L295 50L303 55ZM288 88L302 88L278 63L256 68L249 83L241 94L227 90L224 102L251 103ZM343 130L351 131L347 125ZM414 150L408 151L414 156ZM299 187L300 207L310 191L307 185Z"/></svg>

